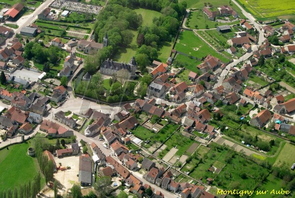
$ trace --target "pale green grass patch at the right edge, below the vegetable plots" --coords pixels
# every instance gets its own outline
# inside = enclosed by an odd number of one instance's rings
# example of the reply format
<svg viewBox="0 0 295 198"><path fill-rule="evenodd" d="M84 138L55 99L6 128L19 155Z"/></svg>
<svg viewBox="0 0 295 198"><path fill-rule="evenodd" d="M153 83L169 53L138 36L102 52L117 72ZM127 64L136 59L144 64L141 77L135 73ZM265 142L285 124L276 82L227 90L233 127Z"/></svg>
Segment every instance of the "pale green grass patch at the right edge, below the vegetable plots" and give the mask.
<svg viewBox="0 0 295 198"><path fill-rule="evenodd" d="M281 166L286 164L287 167L291 167L295 159L295 145L286 143L284 148L280 151L273 166Z"/></svg>

